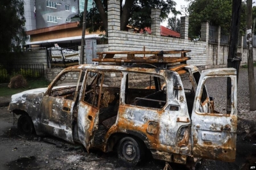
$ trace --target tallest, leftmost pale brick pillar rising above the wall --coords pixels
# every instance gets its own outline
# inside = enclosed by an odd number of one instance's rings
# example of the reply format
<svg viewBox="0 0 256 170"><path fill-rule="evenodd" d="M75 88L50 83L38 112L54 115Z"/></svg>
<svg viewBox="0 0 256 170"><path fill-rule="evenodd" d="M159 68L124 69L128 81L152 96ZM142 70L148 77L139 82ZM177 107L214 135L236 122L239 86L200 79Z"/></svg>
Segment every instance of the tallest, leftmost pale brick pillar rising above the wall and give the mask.
<svg viewBox="0 0 256 170"><path fill-rule="evenodd" d="M120 0L108 1L108 32L120 31Z"/></svg>

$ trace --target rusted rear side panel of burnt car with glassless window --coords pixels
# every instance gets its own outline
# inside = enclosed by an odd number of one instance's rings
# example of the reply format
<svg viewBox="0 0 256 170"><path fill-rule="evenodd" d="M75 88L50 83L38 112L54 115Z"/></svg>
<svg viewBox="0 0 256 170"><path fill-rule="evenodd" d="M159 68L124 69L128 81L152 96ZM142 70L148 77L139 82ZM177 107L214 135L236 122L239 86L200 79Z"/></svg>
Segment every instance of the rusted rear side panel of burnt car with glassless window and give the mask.
<svg viewBox="0 0 256 170"><path fill-rule="evenodd" d="M169 153L188 154L190 118L179 74L168 71L164 77L161 71L159 74L124 73L125 91L120 96L123 101L118 125L120 131L125 129L136 136L147 136L141 139L152 143L154 158L172 161ZM168 156L163 157L158 151Z"/></svg>

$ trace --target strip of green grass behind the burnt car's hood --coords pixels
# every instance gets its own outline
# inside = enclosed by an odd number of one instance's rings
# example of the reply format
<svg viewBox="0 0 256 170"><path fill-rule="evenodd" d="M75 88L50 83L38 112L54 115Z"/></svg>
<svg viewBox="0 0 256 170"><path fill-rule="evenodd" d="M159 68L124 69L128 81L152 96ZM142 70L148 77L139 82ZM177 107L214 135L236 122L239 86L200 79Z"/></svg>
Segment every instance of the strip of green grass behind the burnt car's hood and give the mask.
<svg viewBox="0 0 256 170"><path fill-rule="evenodd" d="M0 87L0 96L11 96L13 94L17 94L19 92L23 92L25 90L29 90L29 89L37 89L37 88L41 88L41 87L47 87L49 85L49 81L47 80L31 80L28 81L28 87L26 88L19 88L19 89L9 89L6 86L1 86Z"/></svg>

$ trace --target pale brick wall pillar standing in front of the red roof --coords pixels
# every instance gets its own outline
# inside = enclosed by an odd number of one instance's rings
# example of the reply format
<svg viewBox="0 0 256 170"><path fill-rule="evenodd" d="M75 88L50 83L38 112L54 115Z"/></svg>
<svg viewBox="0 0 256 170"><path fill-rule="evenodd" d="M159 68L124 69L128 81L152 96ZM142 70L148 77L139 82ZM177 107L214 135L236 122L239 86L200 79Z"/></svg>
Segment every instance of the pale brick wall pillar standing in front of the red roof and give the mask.
<svg viewBox="0 0 256 170"><path fill-rule="evenodd" d="M161 10L151 9L151 34L156 36L161 36Z"/></svg>

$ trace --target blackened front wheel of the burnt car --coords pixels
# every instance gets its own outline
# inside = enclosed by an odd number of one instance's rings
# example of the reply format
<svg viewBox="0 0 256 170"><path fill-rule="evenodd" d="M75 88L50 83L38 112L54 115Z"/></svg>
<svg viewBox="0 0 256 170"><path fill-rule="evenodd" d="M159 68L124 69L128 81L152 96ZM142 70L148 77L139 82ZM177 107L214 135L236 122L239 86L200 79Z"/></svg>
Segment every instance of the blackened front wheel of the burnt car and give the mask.
<svg viewBox="0 0 256 170"><path fill-rule="evenodd" d="M34 131L33 122L28 115L21 115L19 117L18 130L20 134L32 134Z"/></svg>

